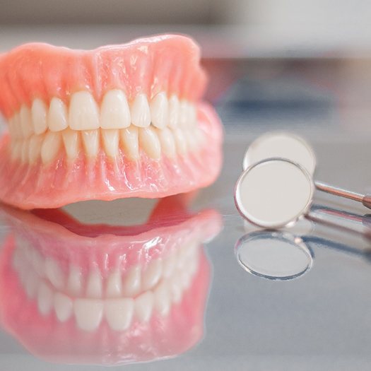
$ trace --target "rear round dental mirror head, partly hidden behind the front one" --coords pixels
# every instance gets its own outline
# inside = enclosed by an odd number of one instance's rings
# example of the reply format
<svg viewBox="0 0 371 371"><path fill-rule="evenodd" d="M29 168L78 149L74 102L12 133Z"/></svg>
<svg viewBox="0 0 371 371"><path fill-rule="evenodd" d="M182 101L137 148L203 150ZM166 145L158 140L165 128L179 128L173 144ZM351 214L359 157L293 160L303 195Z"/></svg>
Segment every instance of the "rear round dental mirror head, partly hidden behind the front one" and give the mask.
<svg viewBox="0 0 371 371"><path fill-rule="evenodd" d="M300 136L289 133L269 132L250 144L245 153L243 168L266 158L287 158L314 174L316 158L312 147Z"/></svg>

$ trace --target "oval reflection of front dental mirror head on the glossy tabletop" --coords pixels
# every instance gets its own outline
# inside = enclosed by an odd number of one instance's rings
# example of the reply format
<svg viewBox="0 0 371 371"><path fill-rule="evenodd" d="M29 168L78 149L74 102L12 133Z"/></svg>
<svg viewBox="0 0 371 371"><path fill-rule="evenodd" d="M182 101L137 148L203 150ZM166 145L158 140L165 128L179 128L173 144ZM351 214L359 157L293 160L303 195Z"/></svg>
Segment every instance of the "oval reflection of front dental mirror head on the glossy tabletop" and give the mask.
<svg viewBox="0 0 371 371"><path fill-rule="evenodd" d="M312 253L300 237L281 232L252 232L235 246L237 261L249 273L290 280L312 267Z"/></svg>

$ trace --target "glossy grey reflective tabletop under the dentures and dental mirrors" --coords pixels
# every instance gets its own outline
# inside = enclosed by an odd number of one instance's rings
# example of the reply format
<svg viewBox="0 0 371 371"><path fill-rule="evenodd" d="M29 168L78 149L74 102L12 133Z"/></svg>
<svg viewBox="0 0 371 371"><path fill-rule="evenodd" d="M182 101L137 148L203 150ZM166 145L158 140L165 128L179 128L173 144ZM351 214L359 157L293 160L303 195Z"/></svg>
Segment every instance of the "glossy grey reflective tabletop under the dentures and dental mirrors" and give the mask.
<svg viewBox="0 0 371 371"><path fill-rule="evenodd" d="M369 211L316 193L325 223L267 232L244 223L233 189L247 145L284 129L314 147L317 180L370 191L371 62L205 65L225 125L211 187L1 206L1 370L369 369Z"/></svg>

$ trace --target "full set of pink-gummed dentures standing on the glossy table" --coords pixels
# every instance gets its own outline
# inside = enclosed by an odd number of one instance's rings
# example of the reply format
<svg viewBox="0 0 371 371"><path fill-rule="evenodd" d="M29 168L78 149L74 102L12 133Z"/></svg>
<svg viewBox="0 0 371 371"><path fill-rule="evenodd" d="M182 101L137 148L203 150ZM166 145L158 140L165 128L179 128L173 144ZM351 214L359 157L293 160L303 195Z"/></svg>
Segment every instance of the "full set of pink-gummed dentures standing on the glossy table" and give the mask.
<svg viewBox="0 0 371 371"><path fill-rule="evenodd" d="M219 171L221 130L200 101L205 83L199 49L182 36L3 54L0 175L11 179L0 180L0 198L57 207L207 186Z"/></svg>

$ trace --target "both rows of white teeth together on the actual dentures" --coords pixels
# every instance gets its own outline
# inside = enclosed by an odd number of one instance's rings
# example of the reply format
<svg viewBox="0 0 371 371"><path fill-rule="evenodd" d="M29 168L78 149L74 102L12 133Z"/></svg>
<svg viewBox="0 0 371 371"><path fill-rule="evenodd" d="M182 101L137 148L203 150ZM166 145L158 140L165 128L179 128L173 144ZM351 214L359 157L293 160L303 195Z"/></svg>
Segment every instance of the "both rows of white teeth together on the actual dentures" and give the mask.
<svg viewBox="0 0 371 371"><path fill-rule="evenodd" d="M138 160L141 150L153 159L175 158L201 146L196 104L175 94L144 93L129 102L123 90L108 90L96 102L87 90L73 93L69 102L54 97L23 104L8 120L11 158L22 163L52 162L60 151L69 160L83 151L95 158L100 150L110 158L120 151Z"/></svg>

